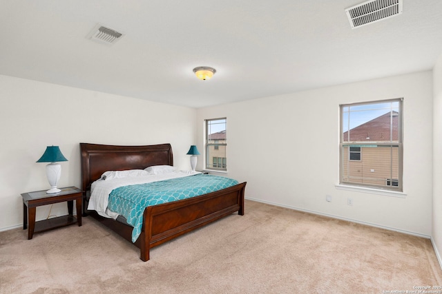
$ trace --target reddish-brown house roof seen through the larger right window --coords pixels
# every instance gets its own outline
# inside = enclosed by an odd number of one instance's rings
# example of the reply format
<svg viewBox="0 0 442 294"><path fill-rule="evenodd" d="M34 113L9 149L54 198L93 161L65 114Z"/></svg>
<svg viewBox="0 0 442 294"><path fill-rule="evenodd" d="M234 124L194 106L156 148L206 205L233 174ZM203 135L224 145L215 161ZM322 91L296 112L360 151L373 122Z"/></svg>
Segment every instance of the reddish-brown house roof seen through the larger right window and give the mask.
<svg viewBox="0 0 442 294"><path fill-rule="evenodd" d="M398 112L392 112L393 136L392 140L398 140ZM350 132L350 140L348 140ZM390 141L390 112L378 116L367 123L358 125L344 133L344 141Z"/></svg>

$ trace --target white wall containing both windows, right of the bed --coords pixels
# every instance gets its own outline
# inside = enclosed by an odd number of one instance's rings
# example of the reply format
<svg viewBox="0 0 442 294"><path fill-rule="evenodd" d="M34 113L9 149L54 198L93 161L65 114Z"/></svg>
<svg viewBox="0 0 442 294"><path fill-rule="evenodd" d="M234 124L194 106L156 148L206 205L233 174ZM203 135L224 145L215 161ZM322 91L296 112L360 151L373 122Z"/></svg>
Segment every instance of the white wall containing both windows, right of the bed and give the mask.
<svg viewBox="0 0 442 294"><path fill-rule="evenodd" d="M206 107L197 111L198 147L203 147L204 119L226 116L228 174L247 181L247 198L429 237L432 94L428 71ZM399 97L404 98L407 196L336 189L339 105ZM202 158L198 165L202 168Z"/></svg>

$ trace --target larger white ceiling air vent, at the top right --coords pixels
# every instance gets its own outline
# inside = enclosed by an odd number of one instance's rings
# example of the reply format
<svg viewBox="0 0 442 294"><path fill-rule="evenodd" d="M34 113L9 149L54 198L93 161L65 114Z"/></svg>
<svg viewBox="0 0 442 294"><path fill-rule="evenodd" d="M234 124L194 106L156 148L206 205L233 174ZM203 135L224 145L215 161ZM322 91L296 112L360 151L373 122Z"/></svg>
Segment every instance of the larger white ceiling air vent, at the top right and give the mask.
<svg viewBox="0 0 442 294"><path fill-rule="evenodd" d="M403 0L371 0L347 8L345 13L354 29L402 14L402 3Z"/></svg>

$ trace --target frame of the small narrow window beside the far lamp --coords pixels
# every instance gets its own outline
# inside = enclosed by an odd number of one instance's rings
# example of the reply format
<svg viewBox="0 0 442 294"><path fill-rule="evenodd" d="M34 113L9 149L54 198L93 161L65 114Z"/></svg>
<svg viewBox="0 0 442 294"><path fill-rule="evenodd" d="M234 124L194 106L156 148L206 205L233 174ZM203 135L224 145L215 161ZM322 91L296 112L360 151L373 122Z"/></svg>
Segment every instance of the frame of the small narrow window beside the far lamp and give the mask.
<svg viewBox="0 0 442 294"><path fill-rule="evenodd" d="M224 139L224 143L220 143L219 139L213 140L213 143L209 143L209 125L211 121L214 120L225 120L225 135L226 138ZM220 146L224 146L224 155L222 156L213 156L212 158L209 158L210 156L210 147L213 146L213 149L218 151L220 149ZM224 158L222 160L222 166L224 167L217 167L213 166L213 159L214 158ZM218 159L217 159L218 162ZM212 166L209 166L212 165ZM220 171L220 172L227 172L227 117L221 117L221 118L209 118L204 120L204 169L209 171Z"/></svg>

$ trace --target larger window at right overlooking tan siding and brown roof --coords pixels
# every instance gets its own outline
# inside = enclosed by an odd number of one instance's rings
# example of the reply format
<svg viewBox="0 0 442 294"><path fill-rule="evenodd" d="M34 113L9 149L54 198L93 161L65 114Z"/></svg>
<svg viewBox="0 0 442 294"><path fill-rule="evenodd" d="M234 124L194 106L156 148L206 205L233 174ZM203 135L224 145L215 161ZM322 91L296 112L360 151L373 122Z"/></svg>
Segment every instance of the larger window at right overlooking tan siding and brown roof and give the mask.
<svg viewBox="0 0 442 294"><path fill-rule="evenodd" d="M402 102L340 105L341 184L402 191Z"/></svg>

